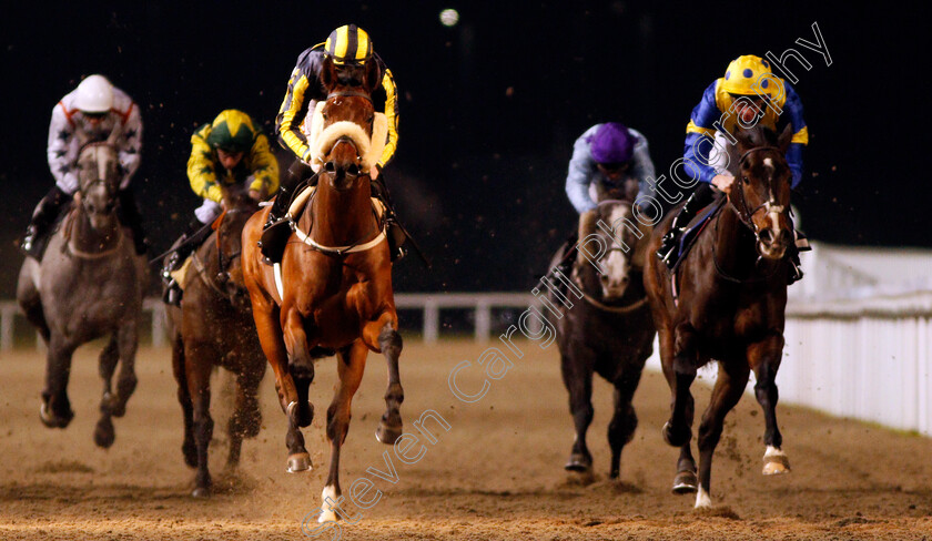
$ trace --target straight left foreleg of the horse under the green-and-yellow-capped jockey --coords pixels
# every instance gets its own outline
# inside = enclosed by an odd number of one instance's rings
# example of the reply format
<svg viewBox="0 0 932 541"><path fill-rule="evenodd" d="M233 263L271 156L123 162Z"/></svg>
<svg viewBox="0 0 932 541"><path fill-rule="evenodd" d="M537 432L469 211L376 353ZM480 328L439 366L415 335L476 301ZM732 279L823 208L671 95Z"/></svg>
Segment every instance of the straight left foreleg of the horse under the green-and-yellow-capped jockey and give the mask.
<svg viewBox="0 0 932 541"><path fill-rule="evenodd" d="M191 496L206 498L211 493L211 473L207 470L207 447L213 438L211 418L211 370L213 364L204 359L214 358L215 351L203 345L184 345L188 392L192 399L194 412L194 442L197 446L197 472L194 476L194 491Z"/></svg>

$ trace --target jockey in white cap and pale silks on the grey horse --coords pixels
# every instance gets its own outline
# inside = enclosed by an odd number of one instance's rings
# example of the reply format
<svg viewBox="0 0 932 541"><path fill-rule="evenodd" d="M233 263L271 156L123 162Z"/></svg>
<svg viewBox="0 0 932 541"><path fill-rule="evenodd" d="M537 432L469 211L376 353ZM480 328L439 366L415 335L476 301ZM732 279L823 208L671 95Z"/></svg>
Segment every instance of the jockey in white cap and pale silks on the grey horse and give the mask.
<svg viewBox="0 0 932 541"><path fill-rule="evenodd" d="M116 146L122 174L118 193L120 222L132 231L136 254L145 253L145 233L129 190L142 149L139 106L103 75L90 75L52 109L47 152L55 185L32 213L20 243L27 255L37 259L42 256L49 229L78 191L77 165L81 149L88 143L109 140Z"/></svg>

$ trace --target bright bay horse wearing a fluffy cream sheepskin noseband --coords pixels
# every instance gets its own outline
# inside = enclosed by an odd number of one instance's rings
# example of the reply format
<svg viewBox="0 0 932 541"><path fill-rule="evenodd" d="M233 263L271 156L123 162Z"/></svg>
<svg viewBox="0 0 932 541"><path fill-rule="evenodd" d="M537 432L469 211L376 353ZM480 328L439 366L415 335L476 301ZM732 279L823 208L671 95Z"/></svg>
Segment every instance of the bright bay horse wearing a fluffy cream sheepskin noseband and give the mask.
<svg viewBox="0 0 932 541"><path fill-rule="evenodd" d="M325 61L322 81L330 95L320 111L323 131L312 142L322 170L285 248L280 275L261 262L256 246L269 212L257 213L243 229L243 273L253 317L288 418L288 471L311 468L300 428L311 425L314 415L307 400L314 358L327 355L322 349L337 355L340 381L327 409L332 455L321 522L336 520L327 499L336 501L341 494L340 450L369 350L382 353L388 361L387 411L376 432L381 441L394 443L401 436L398 410L404 400L392 263L384 228L373 212L367 174L375 162L369 96L377 84L376 73L369 71L362 85L348 86L337 80L332 62Z"/></svg>

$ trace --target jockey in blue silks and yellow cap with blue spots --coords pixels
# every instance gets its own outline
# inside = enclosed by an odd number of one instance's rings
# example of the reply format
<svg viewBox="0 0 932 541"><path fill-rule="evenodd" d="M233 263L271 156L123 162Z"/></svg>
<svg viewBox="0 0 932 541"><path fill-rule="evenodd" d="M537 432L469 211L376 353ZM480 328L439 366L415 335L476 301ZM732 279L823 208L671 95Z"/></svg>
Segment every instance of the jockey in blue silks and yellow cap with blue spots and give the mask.
<svg viewBox="0 0 932 541"><path fill-rule="evenodd" d="M728 144L723 134L732 132L736 124L751 126L760 122L777 131L778 123L789 123L792 140L787 150L787 163L792 172L792 187L802 181L802 147L809 144L809 129L802 118L802 102L789 83L770 71L770 63L760 57L738 57L728 64L725 76L712 82L702 94L702 101L692 110L686 126L683 159L687 172L699 185L673 218L670 231L663 236L657 251L668 267L676 264L680 236L696 214L712 202L712 186L728 193L735 177L728 171L719 171L710 153L702 157L699 146L702 139L715 137L717 144ZM711 163L710 163L711 161ZM804 242L804 241L803 241ZM790 283L802 277L799 254L794 246L790 251L793 272Z"/></svg>

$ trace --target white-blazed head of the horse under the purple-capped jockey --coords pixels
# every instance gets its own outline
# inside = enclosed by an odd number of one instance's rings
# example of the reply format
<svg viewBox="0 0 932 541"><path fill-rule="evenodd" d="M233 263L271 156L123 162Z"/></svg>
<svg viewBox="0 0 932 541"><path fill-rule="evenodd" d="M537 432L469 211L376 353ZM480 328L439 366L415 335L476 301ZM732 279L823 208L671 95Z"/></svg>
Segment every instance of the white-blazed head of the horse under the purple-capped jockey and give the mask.
<svg viewBox="0 0 932 541"><path fill-rule="evenodd" d="M635 249L640 232L631 213L631 203L606 200L596 208L592 231L579 239L586 264L574 270L584 290L592 290L598 283L604 302L621 299L631 282ZM604 227L595 226L601 222ZM609 231L606 231L609 229ZM592 247L597 247L595 253Z"/></svg>

